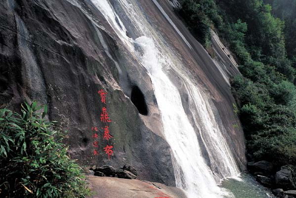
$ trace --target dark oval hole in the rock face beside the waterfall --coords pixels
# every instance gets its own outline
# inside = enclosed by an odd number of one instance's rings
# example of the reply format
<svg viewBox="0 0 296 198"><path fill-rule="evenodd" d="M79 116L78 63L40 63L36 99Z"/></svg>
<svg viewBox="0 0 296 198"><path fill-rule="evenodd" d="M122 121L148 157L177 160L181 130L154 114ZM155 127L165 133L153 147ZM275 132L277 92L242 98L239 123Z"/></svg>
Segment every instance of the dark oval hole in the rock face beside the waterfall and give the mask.
<svg viewBox="0 0 296 198"><path fill-rule="evenodd" d="M138 86L132 87L130 99L134 106L136 106L140 114L144 116L148 115L148 108L145 101L145 96Z"/></svg>

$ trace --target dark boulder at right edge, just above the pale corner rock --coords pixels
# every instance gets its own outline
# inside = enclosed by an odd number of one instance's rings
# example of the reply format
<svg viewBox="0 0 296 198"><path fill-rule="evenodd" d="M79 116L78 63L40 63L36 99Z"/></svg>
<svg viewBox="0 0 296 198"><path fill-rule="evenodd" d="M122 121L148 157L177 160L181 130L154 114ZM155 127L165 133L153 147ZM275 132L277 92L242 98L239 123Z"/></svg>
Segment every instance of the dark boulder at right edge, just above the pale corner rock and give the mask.
<svg viewBox="0 0 296 198"><path fill-rule="evenodd" d="M281 167L281 170L275 174L275 183L277 187L284 190L296 189L295 183L292 179L292 171L285 166Z"/></svg>

